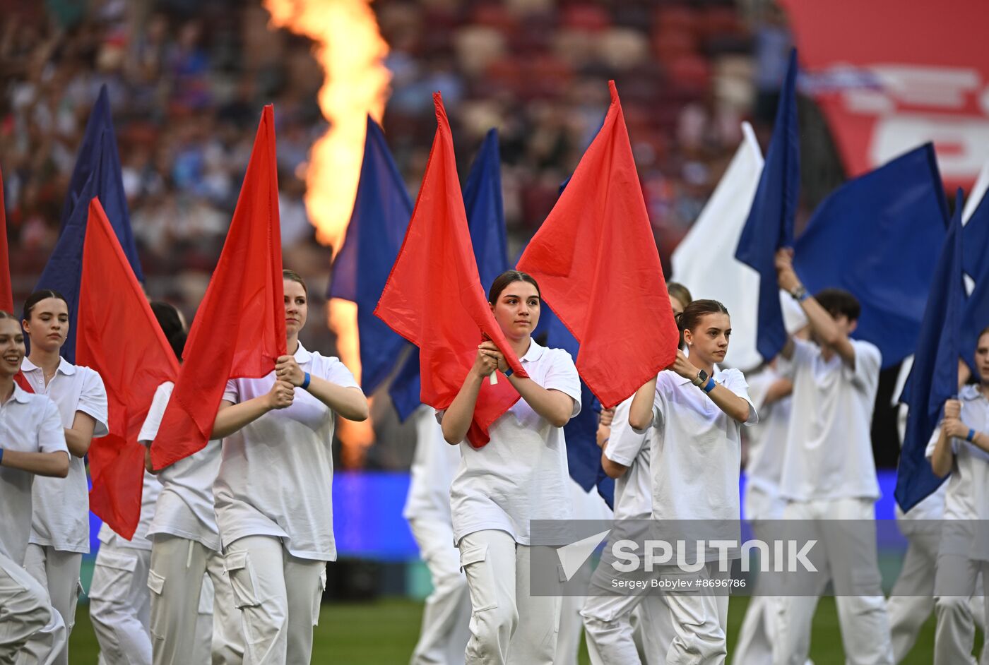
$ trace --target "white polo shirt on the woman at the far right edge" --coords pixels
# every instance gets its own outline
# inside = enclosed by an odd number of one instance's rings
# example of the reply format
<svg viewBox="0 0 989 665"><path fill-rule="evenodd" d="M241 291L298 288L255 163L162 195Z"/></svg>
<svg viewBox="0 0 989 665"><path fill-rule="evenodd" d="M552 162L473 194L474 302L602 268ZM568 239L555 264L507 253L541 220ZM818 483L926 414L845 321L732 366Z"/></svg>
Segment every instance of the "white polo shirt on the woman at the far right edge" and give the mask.
<svg viewBox="0 0 989 665"><path fill-rule="evenodd" d="M961 422L983 436L989 432L989 400L974 385L958 391ZM930 459L941 436L935 430L926 451ZM951 438L951 475L944 495L941 553L989 561L989 454L964 439ZM951 521L951 522L948 522Z"/></svg>

